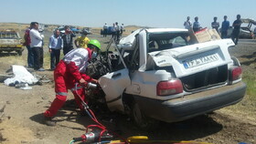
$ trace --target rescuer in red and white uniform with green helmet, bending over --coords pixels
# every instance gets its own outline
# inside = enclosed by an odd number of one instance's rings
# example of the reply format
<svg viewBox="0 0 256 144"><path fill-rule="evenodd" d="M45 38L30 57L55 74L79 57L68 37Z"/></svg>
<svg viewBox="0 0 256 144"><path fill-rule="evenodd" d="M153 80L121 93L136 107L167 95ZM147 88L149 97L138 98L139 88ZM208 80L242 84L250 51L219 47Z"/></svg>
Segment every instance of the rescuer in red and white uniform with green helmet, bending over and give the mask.
<svg viewBox="0 0 256 144"><path fill-rule="evenodd" d="M72 91L80 110L83 110L78 94L81 98L87 101L82 86L86 85L88 82L97 83L97 80L87 76L85 71L88 66L88 61L91 57L97 57L97 53L100 50L100 42L93 39L89 42L88 48L73 49L60 60L58 66L54 70L56 98L44 113L45 123L48 126L56 125L56 122L53 121L52 118L57 114L59 108L64 105L68 89ZM77 83L79 84L76 86Z"/></svg>

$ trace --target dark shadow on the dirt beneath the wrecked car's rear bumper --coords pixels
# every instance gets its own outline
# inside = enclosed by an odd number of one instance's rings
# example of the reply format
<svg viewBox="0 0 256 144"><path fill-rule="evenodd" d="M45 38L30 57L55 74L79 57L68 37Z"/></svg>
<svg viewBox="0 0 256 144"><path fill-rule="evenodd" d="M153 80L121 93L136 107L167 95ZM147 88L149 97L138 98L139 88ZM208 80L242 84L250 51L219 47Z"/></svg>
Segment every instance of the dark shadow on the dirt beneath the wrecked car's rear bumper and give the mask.
<svg viewBox="0 0 256 144"><path fill-rule="evenodd" d="M121 118L122 119L122 118ZM153 130L141 130L134 126L133 122L123 119L117 124L125 138L131 136L147 136L154 140L193 140L212 135L223 129L223 126L208 115L190 118L181 122L165 123L160 122Z"/></svg>

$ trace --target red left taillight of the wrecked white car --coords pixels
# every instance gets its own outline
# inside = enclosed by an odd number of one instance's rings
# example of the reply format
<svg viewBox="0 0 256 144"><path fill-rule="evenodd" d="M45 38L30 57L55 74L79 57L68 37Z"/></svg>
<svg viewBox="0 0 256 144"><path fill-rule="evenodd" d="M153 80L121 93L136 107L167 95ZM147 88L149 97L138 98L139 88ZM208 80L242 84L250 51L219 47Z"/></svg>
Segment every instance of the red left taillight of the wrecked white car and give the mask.
<svg viewBox="0 0 256 144"><path fill-rule="evenodd" d="M156 86L158 96L174 95L183 92L182 83L179 79L160 81Z"/></svg>

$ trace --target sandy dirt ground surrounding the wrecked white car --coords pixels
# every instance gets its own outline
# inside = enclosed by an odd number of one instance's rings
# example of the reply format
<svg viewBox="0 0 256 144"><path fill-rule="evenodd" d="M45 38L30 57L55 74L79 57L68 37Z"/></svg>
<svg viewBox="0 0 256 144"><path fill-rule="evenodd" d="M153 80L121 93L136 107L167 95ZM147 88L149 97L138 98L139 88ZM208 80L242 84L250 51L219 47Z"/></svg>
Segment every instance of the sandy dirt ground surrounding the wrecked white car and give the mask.
<svg viewBox="0 0 256 144"><path fill-rule="evenodd" d="M92 38L92 37L91 37ZM95 36L101 42L107 42L101 36ZM230 50L232 56L239 57L246 71L255 72L256 43L239 44ZM26 52L24 56L27 57ZM0 74L5 73L11 64L26 65L26 61L16 57L0 57ZM248 59L251 59L251 61ZM52 79L52 71L37 72L38 75ZM5 105L4 118L0 121L0 143L3 144L60 144L69 143L73 137L84 133L84 126L93 124L88 117L80 117L74 107L62 108L56 127L43 124L42 113L55 98L53 83L32 86L31 90L21 90L0 84L0 106ZM69 92L69 99L73 98ZM1 109L1 108L0 108ZM137 129L130 118L114 115L112 122L103 122L107 127L117 130L124 138L146 135L150 139L193 140L216 144L256 143L256 115L247 115L245 111L233 111L222 108L212 114L191 118L176 123L160 123L154 131ZM0 113L1 114L1 113ZM96 114L97 115L97 114ZM101 115L97 115L101 119ZM0 115L1 117L1 115Z"/></svg>

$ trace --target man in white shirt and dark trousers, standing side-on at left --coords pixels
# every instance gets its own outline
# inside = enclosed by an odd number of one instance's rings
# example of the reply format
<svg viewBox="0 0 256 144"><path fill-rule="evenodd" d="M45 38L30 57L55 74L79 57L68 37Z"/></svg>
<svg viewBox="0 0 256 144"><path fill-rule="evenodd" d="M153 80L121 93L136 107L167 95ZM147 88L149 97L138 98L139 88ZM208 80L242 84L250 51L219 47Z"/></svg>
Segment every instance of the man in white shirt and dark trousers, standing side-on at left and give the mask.
<svg viewBox="0 0 256 144"><path fill-rule="evenodd" d="M44 49L43 49L43 38L44 36L38 32L38 23L32 22L32 29L29 31L31 39L30 47L34 54L34 69L38 71L44 71Z"/></svg>

